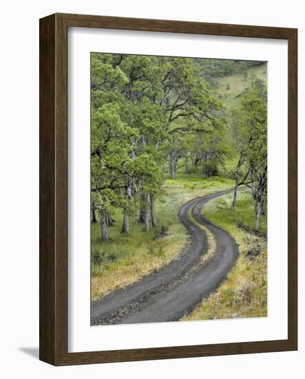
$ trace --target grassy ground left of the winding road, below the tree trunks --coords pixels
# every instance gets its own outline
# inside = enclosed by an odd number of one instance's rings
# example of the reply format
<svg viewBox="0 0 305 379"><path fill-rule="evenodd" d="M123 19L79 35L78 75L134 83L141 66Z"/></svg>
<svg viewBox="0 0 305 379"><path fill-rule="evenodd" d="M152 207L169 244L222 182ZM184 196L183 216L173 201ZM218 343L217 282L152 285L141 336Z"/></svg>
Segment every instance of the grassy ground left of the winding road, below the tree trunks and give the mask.
<svg viewBox="0 0 305 379"><path fill-rule="evenodd" d="M233 183L228 178L178 173L175 181L165 181L162 196L156 201L155 229L144 232L143 225L138 225L133 216L129 236L121 234L122 211L116 209L116 222L109 227L111 240L101 243L99 224L92 224L92 299L134 283L176 258L187 241L185 228L178 219L180 206L191 198L231 187ZM162 226L167 233L158 238Z"/></svg>

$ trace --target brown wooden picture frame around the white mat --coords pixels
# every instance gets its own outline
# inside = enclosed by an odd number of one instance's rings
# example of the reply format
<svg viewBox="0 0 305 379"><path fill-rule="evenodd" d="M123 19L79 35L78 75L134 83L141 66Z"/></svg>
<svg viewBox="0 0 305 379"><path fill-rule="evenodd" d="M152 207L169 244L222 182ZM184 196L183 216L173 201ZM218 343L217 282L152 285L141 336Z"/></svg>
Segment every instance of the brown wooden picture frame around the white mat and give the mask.
<svg viewBox="0 0 305 379"><path fill-rule="evenodd" d="M288 40L288 339L67 352L67 28ZM297 29L81 14L40 20L40 359L78 365L297 350Z"/></svg>

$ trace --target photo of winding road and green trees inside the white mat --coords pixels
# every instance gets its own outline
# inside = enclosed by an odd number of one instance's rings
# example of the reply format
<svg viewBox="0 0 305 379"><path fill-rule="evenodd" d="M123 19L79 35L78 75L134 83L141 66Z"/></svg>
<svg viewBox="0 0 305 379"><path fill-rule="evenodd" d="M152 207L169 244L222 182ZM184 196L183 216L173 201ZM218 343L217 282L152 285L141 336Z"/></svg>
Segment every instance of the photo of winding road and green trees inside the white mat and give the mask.
<svg viewBox="0 0 305 379"><path fill-rule="evenodd" d="M268 63L90 71L91 325L268 316Z"/></svg>

